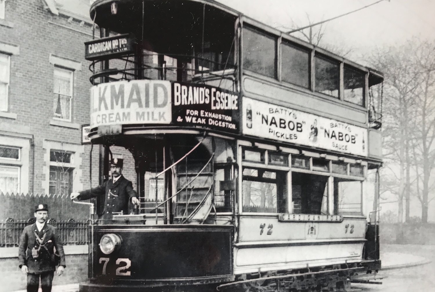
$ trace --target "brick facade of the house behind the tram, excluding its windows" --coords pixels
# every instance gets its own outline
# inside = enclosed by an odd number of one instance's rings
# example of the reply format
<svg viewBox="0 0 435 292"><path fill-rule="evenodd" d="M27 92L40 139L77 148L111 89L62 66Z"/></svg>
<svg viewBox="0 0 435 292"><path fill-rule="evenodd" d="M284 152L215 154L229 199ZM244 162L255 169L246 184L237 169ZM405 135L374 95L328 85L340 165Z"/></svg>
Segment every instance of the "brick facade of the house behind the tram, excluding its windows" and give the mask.
<svg viewBox="0 0 435 292"><path fill-rule="evenodd" d="M31 138L29 154L28 189L20 193L48 194L47 141L75 145L80 149L75 166L74 181L80 188L90 184L90 145L80 145L81 132L77 125L90 121L89 78L90 62L84 59L84 42L92 39L92 25L81 23L66 15L54 15L44 8L41 0L7 0L5 20L13 27L0 25L0 42L19 46L20 54L10 56L10 86L8 113L17 118L0 115L0 140L2 135L28 135ZM96 30L98 34L98 29ZM74 71L72 99L73 127L51 125L53 116L54 64L50 55L81 62L81 70ZM75 126L75 128L74 128ZM47 146L46 146L47 147ZM136 173L131 154L121 150L126 159L124 174L135 184ZM130 160L130 161L129 161ZM99 147L92 151L92 186L98 185ZM77 172L80 171L80 172ZM76 176L76 173L80 173ZM79 191L74 189L73 191ZM0 190L1 192L2 190ZM4 190L3 190L4 192Z"/></svg>

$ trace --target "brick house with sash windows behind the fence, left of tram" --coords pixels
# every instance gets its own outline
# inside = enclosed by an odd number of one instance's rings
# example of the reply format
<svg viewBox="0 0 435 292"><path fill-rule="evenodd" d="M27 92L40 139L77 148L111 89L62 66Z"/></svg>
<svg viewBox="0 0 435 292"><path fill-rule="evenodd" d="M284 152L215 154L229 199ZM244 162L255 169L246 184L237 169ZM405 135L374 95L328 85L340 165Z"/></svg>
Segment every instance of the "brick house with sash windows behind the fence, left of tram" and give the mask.
<svg viewBox="0 0 435 292"><path fill-rule="evenodd" d="M0 0L0 195L67 200L71 191L90 187L90 145L81 144L90 108L89 7L89 0ZM112 152L131 157L125 149ZM94 146L93 186L98 160ZM135 181L133 162L124 169Z"/></svg>

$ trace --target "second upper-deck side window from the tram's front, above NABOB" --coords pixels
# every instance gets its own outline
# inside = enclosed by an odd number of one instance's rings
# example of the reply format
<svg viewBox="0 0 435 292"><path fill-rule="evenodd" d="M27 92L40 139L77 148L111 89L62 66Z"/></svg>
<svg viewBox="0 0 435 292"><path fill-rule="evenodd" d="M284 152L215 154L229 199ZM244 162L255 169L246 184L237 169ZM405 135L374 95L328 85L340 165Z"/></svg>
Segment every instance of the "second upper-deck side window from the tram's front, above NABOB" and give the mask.
<svg viewBox="0 0 435 292"><path fill-rule="evenodd" d="M282 43L281 56L281 79L310 88L310 52Z"/></svg>

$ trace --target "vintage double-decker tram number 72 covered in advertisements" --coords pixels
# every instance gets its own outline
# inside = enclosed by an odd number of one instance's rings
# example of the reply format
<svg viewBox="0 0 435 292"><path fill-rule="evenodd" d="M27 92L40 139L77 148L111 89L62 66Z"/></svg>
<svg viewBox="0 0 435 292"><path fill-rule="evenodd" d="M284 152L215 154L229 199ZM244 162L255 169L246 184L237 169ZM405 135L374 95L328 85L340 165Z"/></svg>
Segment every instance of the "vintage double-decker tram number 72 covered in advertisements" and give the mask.
<svg viewBox="0 0 435 292"><path fill-rule="evenodd" d="M81 292L344 291L380 269L380 72L212 0L90 17L89 137L104 165L130 151L140 204L93 220Z"/></svg>

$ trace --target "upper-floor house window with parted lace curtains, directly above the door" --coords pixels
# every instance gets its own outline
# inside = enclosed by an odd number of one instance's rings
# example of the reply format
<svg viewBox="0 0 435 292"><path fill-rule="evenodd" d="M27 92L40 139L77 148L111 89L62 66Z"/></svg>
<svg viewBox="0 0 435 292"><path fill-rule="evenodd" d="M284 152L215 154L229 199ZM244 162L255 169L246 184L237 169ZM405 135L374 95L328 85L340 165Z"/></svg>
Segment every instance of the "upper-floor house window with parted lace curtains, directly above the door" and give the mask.
<svg viewBox="0 0 435 292"><path fill-rule="evenodd" d="M54 68L53 118L71 121L73 98L73 71Z"/></svg>

